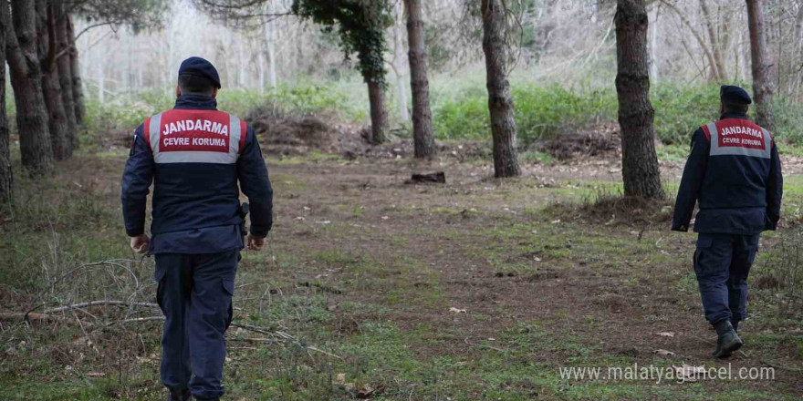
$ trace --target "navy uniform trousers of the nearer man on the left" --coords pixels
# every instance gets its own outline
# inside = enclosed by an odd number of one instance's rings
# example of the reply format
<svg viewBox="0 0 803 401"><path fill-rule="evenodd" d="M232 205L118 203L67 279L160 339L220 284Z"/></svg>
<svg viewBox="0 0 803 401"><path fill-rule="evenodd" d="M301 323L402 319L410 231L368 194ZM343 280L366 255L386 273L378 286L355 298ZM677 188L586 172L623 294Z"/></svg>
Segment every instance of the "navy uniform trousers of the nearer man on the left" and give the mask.
<svg viewBox="0 0 803 401"><path fill-rule="evenodd" d="M157 301L162 333L162 384L189 389L196 399L217 399L225 359L224 333L232 322L239 251L157 253Z"/></svg>

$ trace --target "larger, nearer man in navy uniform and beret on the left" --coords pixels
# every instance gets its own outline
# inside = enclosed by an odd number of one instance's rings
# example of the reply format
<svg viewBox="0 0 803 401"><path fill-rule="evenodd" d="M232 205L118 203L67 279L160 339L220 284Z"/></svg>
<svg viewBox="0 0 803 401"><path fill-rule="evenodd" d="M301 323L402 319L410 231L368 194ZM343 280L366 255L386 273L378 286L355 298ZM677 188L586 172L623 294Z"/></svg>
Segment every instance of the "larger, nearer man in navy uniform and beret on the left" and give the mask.
<svg viewBox="0 0 803 401"><path fill-rule="evenodd" d="M162 384L175 401L223 396L224 332L232 320L240 250L244 242L260 250L273 222L273 190L259 143L245 121L217 110L219 88L212 64L184 60L175 108L136 130L122 179L131 249L156 258L157 301L166 318ZM238 181L250 201L247 240Z"/></svg>

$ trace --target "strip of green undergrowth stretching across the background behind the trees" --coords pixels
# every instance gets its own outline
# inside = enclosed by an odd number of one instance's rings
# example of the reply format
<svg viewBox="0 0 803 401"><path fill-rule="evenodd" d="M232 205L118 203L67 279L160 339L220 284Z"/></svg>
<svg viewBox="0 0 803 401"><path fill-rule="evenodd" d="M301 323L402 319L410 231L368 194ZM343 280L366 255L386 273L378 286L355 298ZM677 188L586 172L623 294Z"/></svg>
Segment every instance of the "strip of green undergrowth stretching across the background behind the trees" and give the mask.
<svg viewBox="0 0 803 401"><path fill-rule="evenodd" d="M485 78L474 75L446 77L433 82L433 128L437 139L488 139L491 136ZM742 83L742 86L749 85ZM617 98L613 83L609 87L570 89L558 84L539 86L519 79L511 84L516 127L520 143L527 146L539 139L554 139L562 132L580 129L600 120L616 120ZM395 96L389 89L391 113ZM719 87L715 84L688 85L662 80L651 90L655 109L655 131L665 144L687 145L694 129L719 117ZM269 104L282 115L307 116L328 113L347 121L365 122L369 105L364 84L348 82L297 82L267 88L228 89L220 92L219 107L240 117ZM82 138L111 131L132 130L160 110L172 108L173 98L163 91L141 93L138 99L118 99L100 104L89 100ZM13 101L9 120L14 121ZM776 96L777 139L803 142L803 106ZM403 129L402 129L403 130ZM409 129L408 129L409 130ZM405 137L401 135L401 137ZM97 139L94 138L94 139Z"/></svg>

